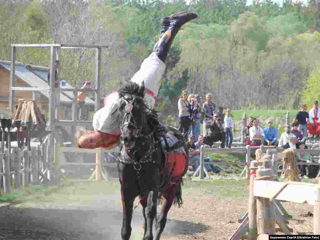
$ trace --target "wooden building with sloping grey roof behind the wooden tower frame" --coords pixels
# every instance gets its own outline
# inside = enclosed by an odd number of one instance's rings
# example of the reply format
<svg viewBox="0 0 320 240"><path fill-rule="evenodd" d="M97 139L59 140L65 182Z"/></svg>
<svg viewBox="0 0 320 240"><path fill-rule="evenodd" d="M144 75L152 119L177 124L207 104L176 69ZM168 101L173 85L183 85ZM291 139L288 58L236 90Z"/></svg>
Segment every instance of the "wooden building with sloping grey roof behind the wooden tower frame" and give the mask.
<svg viewBox="0 0 320 240"><path fill-rule="evenodd" d="M49 68L24 65L23 63L15 63L15 86L16 87L48 87L48 70ZM1 115L9 117L9 86L10 86L10 61L0 60L0 117ZM66 88L73 88L68 83ZM79 92L80 93L80 92ZM19 99L36 100L36 104L43 112L47 112L49 106L49 92L31 92L31 91L15 91L15 104ZM60 120L71 119L72 109L72 92L60 92ZM90 110L94 109L94 101L88 97L85 98L85 105Z"/></svg>

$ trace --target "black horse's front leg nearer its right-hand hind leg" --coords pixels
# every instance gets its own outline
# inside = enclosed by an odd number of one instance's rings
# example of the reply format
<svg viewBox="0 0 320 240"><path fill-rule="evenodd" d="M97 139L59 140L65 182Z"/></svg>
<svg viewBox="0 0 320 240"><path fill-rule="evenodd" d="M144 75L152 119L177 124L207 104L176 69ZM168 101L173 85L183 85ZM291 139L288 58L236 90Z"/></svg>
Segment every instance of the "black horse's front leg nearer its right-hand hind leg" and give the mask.
<svg viewBox="0 0 320 240"><path fill-rule="evenodd" d="M152 235L152 224L157 213L157 200L158 200L158 190L153 189L149 192L148 202L146 206L146 224L145 224L145 234L144 240L153 240Z"/></svg>

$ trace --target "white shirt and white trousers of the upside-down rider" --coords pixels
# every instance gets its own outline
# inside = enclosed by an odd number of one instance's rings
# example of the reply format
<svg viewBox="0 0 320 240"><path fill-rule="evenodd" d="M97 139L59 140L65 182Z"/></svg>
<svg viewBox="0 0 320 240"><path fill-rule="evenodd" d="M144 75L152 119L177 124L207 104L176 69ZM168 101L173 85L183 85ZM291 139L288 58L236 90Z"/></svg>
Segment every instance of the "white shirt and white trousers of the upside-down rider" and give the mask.
<svg viewBox="0 0 320 240"><path fill-rule="evenodd" d="M149 108L153 108L155 105L164 70L164 62L153 52L142 62L139 71L131 78L131 81L137 84L144 81L144 98L149 104ZM121 113L116 111L120 107L118 92L108 95L105 102L105 106L93 115L93 128L100 132L119 135L122 117Z"/></svg>

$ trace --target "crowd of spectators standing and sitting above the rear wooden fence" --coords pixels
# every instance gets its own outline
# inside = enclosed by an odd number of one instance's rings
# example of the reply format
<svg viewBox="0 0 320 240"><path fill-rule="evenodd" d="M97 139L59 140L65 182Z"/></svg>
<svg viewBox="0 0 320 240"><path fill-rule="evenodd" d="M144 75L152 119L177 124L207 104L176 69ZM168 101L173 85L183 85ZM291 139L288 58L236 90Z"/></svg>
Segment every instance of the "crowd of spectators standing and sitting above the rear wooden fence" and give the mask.
<svg viewBox="0 0 320 240"><path fill-rule="evenodd" d="M200 95L182 91L178 100L179 131L188 142L190 142L191 137L193 141L199 140L200 137L201 143L205 145L212 146L214 142L221 141L220 148L231 148L234 128L231 110L226 109L222 114L217 111L216 105L211 100L212 95L208 93L201 105ZM307 110L307 105L302 105L293 123L285 125L285 132L281 134L279 139L278 129L273 125L272 120L269 120L267 126L262 128L259 119L250 116L245 129L245 143L250 146L266 145L290 148L290 136L293 135L296 139L296 148L306 147L305 139L307 136L319 137L320 135L318 101L314 101L314 106L309 112ZM204 135L201 135L201 123L204 126ZM188 144L188 147L190 147L190 144Z"/></svg>

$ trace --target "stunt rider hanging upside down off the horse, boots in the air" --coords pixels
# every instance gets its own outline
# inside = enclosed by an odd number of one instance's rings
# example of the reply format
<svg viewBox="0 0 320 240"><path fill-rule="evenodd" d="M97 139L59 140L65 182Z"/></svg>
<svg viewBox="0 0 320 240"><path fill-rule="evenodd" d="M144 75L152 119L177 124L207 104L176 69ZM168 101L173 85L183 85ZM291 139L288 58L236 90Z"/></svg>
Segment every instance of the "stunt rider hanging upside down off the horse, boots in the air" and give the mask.
<svg viewBox="0 0 320 240"><path fill-rule="evenodd" d="M145 100L149 108L153 108L161 84L161 77L165 70L165 59L172 41L180 27L197 17L195 13L181 12L165 17L162 21L163 30L156 42L153 52L145 59L140 70L131 81L145 85ZM106 105L93 116L94 131L76 132L76 142L79 148L110 148L120 140L121 113L117 111L121 99L117 92L113 92L105 100Z"/></svg>

